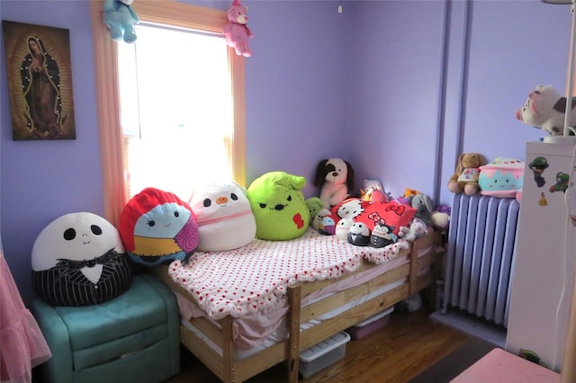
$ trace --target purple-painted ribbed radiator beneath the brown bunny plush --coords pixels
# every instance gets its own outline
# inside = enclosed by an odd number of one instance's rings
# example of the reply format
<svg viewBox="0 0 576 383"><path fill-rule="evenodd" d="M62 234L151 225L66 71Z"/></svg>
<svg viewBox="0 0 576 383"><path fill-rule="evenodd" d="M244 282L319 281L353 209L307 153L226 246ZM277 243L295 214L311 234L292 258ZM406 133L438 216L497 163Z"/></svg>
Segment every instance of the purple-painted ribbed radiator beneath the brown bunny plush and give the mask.
<svg viewBox="0 0 576 383"><path fill-rule="evenodd" d="M443 314L458 307L507 327L518 210L510 198L454 195Z"/></svg>

